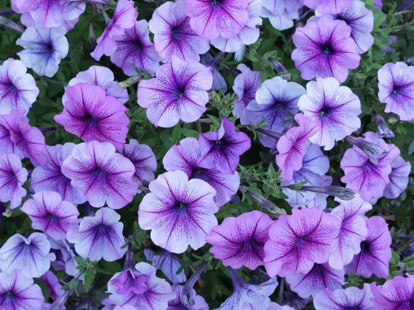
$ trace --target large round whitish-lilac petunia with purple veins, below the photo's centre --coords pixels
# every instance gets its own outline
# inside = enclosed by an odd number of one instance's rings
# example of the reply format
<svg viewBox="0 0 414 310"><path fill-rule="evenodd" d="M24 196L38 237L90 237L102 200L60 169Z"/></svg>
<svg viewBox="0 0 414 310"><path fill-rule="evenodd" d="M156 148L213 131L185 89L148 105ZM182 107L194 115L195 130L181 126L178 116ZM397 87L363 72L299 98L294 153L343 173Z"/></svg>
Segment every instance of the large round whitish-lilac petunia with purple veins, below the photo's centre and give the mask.
<svg viewBox="0 0 414 310"><path fill-rule="evenodd" d="M217 225L215 189L204 180L188 180L179 170L158 176L149 185L138 211L141 229L151 229L151 240L172 253L183 253L188 245L199 249Z"/></svg>

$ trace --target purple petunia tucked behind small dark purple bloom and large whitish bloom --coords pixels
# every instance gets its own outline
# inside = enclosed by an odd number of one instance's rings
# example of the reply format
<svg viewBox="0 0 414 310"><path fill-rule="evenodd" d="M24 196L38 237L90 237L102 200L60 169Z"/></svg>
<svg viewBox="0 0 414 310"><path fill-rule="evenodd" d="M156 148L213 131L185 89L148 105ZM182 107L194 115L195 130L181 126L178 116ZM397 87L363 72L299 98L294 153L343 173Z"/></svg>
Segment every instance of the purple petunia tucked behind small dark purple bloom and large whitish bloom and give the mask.
<svg viewBox="0 0 414 310"><path fill-rule="evenodd" d="M217 167L210 169L199 165L201 147L196 138L184 138L179 145L173 145L163 158L164 168L167 171L181 170L186 172L188 179L198 178L206 181L216 190L214 197L217 207L221 207L231 196L236 194L240 185L237 172L224 174Z"/></svg>

